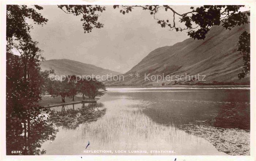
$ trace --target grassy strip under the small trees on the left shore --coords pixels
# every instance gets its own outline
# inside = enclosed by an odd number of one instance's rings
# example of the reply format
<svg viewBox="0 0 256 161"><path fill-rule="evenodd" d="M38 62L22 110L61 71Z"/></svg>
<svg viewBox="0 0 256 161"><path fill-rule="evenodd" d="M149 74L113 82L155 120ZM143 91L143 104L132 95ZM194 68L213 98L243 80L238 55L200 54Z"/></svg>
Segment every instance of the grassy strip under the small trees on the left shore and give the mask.
<svg viewBox="0 0 256 161"><path fill-rule="evenodd" d="M78 103L79 101L90 101L92 99L89 98L85 98L85 100L83 100L82 96L75 96L74 97L74 101L72 100L72 98L69 97L65 97L65 103ZM57 97L52 97L50 95L44 95L42 96L42 100L39 103L40 106L48 106L48 105L58 105L58 104L63 104L61 97L57 96Z"/></svg>

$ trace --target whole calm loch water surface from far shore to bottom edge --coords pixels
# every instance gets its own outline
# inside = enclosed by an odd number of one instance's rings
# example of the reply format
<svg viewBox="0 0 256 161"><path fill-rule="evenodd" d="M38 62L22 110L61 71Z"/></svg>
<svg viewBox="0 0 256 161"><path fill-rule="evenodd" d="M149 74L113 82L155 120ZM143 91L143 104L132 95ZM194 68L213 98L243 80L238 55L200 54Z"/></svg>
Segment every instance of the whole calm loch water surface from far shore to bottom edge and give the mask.
<svg viewBox="0 0 256 161"><path fill-rule="evenodd" d="M40 150L46 155L249 154L249 89L107 90L97 104L50 108L58 132Z"/></svg>

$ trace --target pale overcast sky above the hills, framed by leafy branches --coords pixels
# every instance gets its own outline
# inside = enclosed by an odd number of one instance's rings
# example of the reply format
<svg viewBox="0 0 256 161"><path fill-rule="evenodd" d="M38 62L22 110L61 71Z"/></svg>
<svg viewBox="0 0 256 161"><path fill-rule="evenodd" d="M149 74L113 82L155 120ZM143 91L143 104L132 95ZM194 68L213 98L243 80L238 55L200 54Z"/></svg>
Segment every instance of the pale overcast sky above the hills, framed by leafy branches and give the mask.
<svg viewBox="0 0 256 161"><path fill-rule="evenodd" d="M46 25L34 24L32 38L39 42L46 60L70 59L125 73L138 64L150 51L171 46L188 38L186 32L161 28L148 11L136 8L129 14L106 6L100 14L103 28L93 28L84 34L80 16L65 14L56 5L44 5L42 15ZM177 12L189 11L190 6L175 6ZM159 18L172 21L172 12L160 12Z"/></svg>

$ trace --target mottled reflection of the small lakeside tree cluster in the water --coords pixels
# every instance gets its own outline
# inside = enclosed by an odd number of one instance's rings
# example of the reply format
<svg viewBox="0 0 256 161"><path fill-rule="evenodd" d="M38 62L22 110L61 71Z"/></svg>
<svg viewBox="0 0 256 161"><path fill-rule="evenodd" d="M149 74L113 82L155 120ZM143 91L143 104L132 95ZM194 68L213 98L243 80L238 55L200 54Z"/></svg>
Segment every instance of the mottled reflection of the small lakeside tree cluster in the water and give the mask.
<svg viewBox="0 0 256 161"><path fill-rule="evenodd" d="M72 108L68 108L72 106ZM81 108L76 108L75 105L66 105L60 108L49 108L49 119L56 124L66 129L76 129L79 124L84 122L93 122L102 117L106 113L106 108L102 108L101 103L82 103Z"/></svg>

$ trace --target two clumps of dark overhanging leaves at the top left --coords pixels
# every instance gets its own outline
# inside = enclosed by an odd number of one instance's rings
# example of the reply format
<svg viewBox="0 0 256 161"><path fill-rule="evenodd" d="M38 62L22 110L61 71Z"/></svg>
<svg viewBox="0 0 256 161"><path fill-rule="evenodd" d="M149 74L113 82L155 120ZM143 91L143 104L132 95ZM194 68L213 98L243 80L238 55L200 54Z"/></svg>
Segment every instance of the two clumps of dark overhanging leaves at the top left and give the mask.
<svg viewBox="0 0 256 161"><path fill-rule="evenodd" d="M66 14L82 15L84 33L89 33L95 28L102 28L103 24L98 22L98 12L105 11L100 5L57 5ZM13 40L30 38L32 24L27 23L28 19L34 24L44 25L48 19L44 18L37 10L44 9L39 5L7 5L6 11L6 49L11 52Z"/></svg>

